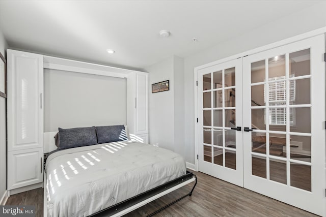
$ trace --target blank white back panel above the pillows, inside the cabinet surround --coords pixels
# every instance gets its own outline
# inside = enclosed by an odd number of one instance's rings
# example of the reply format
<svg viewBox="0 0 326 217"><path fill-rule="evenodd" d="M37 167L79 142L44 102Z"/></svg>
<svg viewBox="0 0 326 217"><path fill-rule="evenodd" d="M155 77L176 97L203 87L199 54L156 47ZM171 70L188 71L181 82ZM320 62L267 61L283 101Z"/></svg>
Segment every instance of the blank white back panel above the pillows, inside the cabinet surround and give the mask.
<svg viewBox="0 0 326 217"><path fill-rule="evenodd" d="M44 70L44 132L126 125L126 79Z"/></svg>

